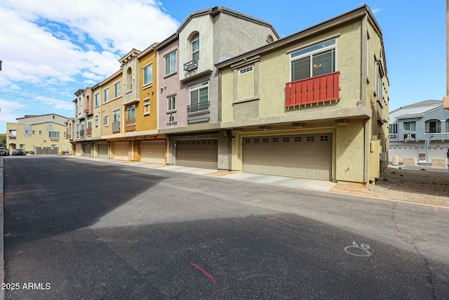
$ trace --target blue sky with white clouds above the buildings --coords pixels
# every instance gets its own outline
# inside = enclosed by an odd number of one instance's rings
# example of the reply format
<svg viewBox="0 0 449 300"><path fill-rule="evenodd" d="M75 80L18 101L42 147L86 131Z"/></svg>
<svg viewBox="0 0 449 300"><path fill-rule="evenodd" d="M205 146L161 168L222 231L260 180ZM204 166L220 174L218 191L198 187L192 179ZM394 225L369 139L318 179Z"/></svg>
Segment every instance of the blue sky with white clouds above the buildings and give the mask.
<svg viewBox="0 0 449 300"><path fill-rule="evenodd" d="M120 70L119 59L163 41L193 11L226 6L281 37L368 4L382 28L389 110L446 96L445 1L2 0L0 133L24 115L74 116L74 93Z"/></svg>

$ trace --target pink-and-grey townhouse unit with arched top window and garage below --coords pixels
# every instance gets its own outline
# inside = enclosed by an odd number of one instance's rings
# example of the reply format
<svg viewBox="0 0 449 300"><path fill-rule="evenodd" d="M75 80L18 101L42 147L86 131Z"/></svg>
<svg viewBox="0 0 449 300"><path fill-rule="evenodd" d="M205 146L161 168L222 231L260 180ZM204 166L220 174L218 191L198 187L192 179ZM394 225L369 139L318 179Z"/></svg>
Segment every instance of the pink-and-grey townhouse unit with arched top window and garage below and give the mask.
<svg viewBox="0 0 449 300"><path fill-rule="evenodd" d="M217 6L191 13L159 52L159 132L168 137L168 163L230 169L222 133L222 60L279 39L269 23Z"/></svg>

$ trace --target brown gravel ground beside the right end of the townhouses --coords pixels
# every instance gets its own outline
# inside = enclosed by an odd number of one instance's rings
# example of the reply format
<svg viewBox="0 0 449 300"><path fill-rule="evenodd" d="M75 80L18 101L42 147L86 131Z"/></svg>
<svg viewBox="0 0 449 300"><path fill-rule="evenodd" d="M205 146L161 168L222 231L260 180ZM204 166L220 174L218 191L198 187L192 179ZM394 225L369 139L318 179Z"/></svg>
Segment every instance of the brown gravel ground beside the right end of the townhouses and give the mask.
<svg viewBox="0 0 449 300"><path fill-rule="evenodd" d="M388 167L382 172L376 185L336 185L331 191L449 207L449 172L447 169L426 170L424 167Z"/></svg>

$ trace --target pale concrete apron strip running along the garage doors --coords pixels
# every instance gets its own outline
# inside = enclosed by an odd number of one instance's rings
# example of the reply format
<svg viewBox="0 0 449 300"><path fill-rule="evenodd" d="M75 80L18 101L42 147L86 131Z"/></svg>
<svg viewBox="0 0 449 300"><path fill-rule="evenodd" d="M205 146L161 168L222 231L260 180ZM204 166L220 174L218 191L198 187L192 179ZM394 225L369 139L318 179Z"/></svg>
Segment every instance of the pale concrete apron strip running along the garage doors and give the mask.
<svg viewBox="0 0 449 300"><path fill-rule="evenodd" d="M253 183L262 183L265 185L276 185L285 186L288 188L301 188L305 190L319 190L319 191L329 191L337 183L331 181L319 181L313 179L302 179L302 178L292 178L284 176L272 176L272 175L262 175L262 174L250 174L241 173L234 171L219 171L216 169L203 169L194 167L182 167L182 166L167 166L165 164L151 164L146 162L127 162L117 159L104 159L98 157L82 157L67 155L65 156L70 159L88 159L95 162L104 162L108 164L123 164L130 167L142 167L148 169L159 169L163 171L173 171L186 174L204 175L204 176L215 176L227 179L232 179L236 181L246 181Z"/></svg>

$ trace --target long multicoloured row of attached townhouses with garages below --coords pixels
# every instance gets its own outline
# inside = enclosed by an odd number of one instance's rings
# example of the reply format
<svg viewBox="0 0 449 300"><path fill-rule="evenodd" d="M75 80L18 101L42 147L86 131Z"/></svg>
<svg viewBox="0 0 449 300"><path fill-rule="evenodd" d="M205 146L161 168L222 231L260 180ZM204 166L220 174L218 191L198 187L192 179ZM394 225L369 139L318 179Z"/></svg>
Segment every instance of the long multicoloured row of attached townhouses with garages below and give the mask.
<svg viewBox="0 0 449 300"><path fill-rule="evenodd" d="M387 167L389 81L366 5L279 38L225 7L76 91L74 155L366 184Z"/></svg>

